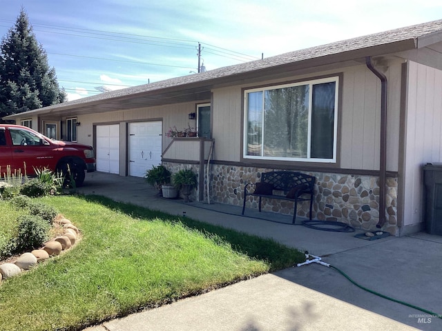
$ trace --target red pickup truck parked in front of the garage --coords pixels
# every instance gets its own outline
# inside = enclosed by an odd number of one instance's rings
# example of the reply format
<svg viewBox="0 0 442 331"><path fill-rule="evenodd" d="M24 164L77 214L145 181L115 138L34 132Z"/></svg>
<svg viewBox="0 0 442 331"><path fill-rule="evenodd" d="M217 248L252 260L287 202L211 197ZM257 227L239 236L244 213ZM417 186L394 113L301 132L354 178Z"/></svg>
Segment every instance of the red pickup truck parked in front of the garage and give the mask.
<svg viewBox="0 0 442 331"><path fill-rule="evenodd" d="M66 175L69 168L75 185L81 186L85 171L95 171L95 156L91 146L51 140L26 126L0 124L0 177L8 165L12 173L20 170L31 176L44 168Z"/></svg>

